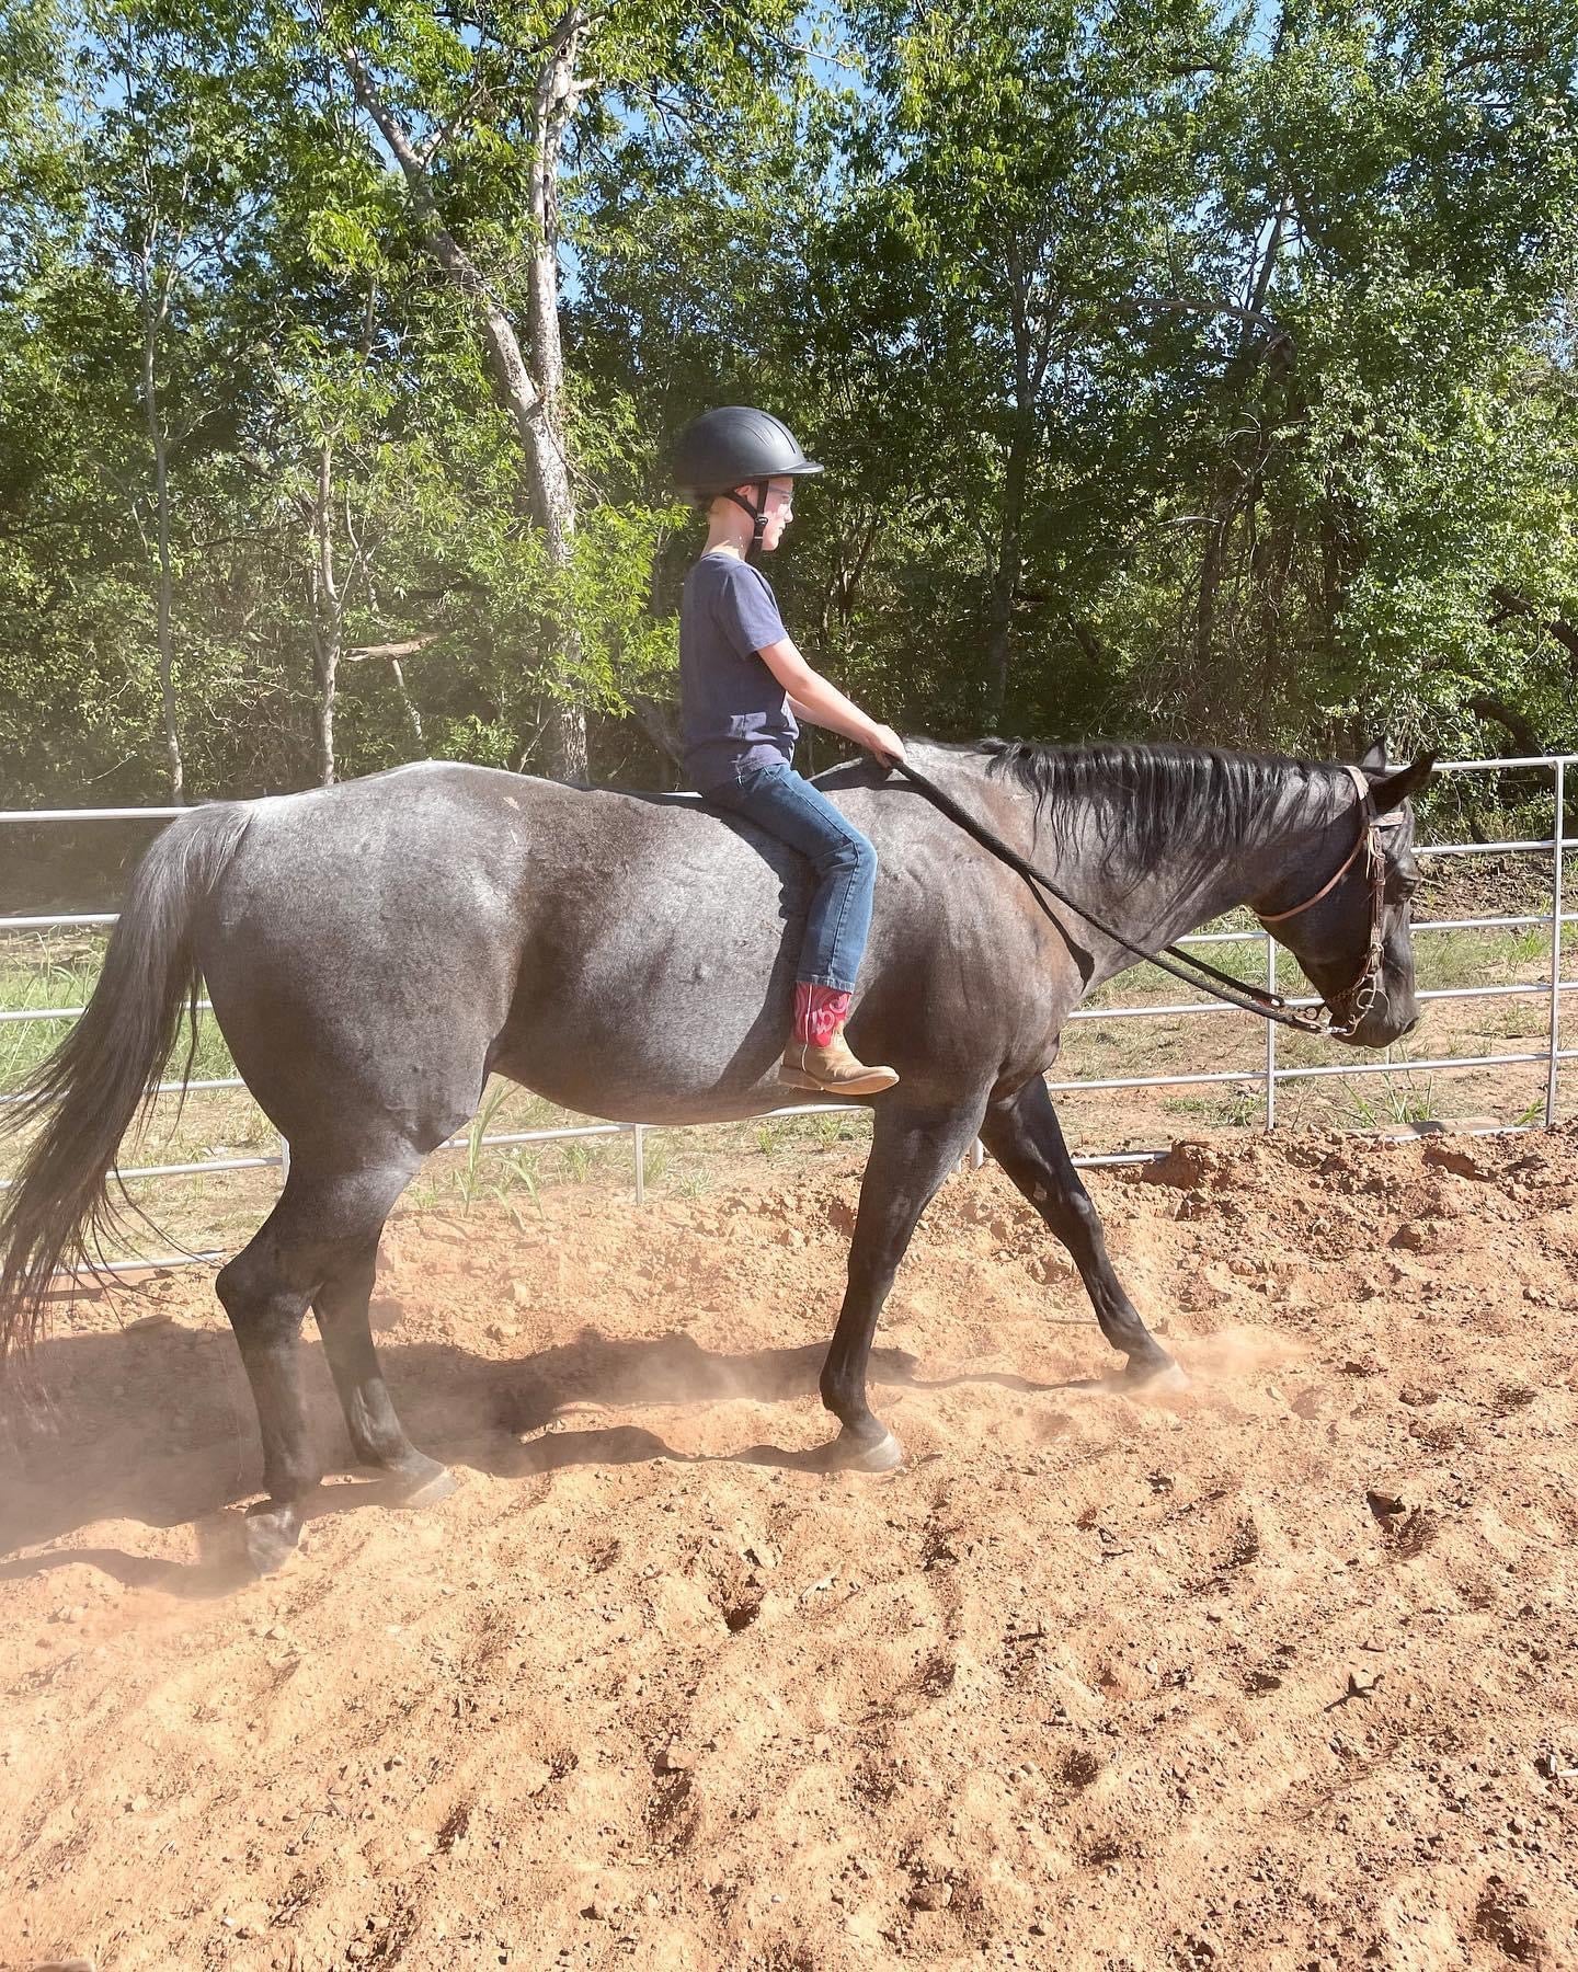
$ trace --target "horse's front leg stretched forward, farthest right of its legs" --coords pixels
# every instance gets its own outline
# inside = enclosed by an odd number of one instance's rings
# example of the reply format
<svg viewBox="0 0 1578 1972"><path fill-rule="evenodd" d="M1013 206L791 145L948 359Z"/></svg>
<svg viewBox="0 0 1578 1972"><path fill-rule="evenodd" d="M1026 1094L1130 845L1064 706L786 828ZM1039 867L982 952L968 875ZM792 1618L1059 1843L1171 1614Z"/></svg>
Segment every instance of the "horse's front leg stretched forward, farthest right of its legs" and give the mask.
<svg viewBox="0 0 1578 1972"><path fill-rule="evenodd" d="M986 1110L980 1140L1069 1248L1097 1311L1101 1333L1128 1357L1128 1374L1134 1380L1160 1374L1182 1380L1182 1371L1144 1325L1112 1272L1101 1215L1079 1181L1057 1110L1040 1075L1018 1094Z"/></svg>

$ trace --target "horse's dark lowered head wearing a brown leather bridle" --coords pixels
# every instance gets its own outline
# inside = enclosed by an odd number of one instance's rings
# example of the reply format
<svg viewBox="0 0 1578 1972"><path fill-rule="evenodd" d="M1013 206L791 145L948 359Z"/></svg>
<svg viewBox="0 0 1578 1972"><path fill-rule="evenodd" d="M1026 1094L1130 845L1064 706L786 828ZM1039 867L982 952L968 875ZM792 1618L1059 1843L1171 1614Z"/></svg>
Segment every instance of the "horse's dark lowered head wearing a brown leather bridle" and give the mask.
<svg viewBox="0 0 1578 1972"><path fill-rule="evenodd" d="M1387 1047L1418 1025L1408 923L1418 864L1408 801L1434 765L1434 753L1420 753L1408 767L1389 767L1387 749L1373 745L1349 769L1353 801L1335 810L1320 844L1278 876L1264 907L1256 905L1331 1010L1331 1035L1355 1047ZM1335 874L1333 854L1347 858Z"/></svg>

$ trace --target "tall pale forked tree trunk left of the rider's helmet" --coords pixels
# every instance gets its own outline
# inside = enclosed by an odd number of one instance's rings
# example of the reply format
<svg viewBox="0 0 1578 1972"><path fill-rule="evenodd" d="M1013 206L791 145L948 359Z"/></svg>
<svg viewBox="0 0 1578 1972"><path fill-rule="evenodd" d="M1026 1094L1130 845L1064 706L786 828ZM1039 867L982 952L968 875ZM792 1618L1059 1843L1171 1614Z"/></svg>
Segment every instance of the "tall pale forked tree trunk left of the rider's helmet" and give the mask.
<svg viewBox="0 0 1578 1972"><path fill-rule="evenodd" d="M537 369L535 375L527 367L509 317L493 300L487 282L473 266L469 254L444 225L432 181L428 179L426 162L400 118L383 101L383 93L361 53L355 47L341 51L357 103L379 126L404 174L416 217L426 231L434 258L471 302L495 388L515 418L531 507L546 536L548 564L554 570L566 570L574 554L576 499L570 485L570 465L562 432L564 363L558 337L556 199L548 172L550 168L556 170L564 126L574 114L578 101L574 55L584 28L584 10L572 6L556 30L552 51L538 75L537 91L538 144L533 162L533 215L538 237L533 243L529 270L529 308L533 357L537 365L548 365L546 375L542 369ZM560 692L570 694L580 672L580 639L574 625L558 623L556 629L562 639L562 655L554 682L560 686ZM582 706L568 696L554 694L550 732L554 771L562 779L586 779L586 712Z"/></svg>

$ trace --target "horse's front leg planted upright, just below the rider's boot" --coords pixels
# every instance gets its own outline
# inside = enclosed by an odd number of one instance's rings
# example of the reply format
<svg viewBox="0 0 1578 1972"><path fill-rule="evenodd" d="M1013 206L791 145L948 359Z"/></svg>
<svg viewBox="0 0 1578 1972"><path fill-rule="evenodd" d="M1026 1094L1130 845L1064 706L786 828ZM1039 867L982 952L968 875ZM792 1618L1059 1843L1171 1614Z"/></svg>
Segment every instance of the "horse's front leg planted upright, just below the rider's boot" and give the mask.
<svg viewBox="0 0 1578 1972"><path fill-rule="evenodd" d="M980 1126L980 1106L901 1108L894 1096L876 1106L872 1154L860 1181L860 1213L850 1240L850 1274L838 1327L823 1365L823 1402L842 1430L826 1463L880 1473L903 1457L897 1438L866 1402L866 1365L882 1303L921 1213Z"/></svg>

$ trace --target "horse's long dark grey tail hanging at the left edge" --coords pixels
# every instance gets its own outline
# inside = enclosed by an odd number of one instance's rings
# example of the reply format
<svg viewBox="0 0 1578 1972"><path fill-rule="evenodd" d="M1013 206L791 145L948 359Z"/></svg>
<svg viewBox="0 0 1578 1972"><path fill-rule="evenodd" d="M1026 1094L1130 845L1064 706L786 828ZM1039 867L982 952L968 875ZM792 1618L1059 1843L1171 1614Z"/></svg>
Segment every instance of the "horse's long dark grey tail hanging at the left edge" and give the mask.
<svg viewBox="0 0 1578 1972"><path fill-rule="evenodd" d="M138 864L105 966L81 1020L37 1069L0 1134L43 1118L16 1181L0 1193L0 1365L28 1349L61 1260L93 1264L116 1211L108 1173L138 1106L144 1120L185 1004L191 1023L181 1083L197 1051L199 972L193 919L247 832L233 803L193 809Z"/></svg>

